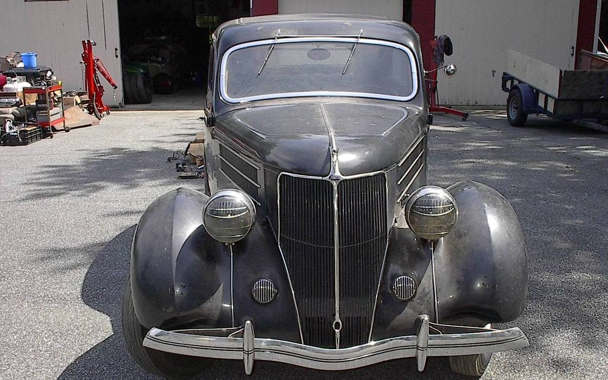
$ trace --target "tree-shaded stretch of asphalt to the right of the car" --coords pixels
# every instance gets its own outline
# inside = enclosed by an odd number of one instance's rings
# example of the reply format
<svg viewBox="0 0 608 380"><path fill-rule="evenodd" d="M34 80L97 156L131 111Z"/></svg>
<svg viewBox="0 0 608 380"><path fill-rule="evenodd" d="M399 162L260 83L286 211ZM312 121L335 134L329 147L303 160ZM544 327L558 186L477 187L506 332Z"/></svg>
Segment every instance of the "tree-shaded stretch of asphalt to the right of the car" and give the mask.
<svg viewBox="0 0 608 380"><path fill-rule="evenodd" d="M526 238L530 273L527 308L517 325L531 345L516 351L517 356L578 378L597 365L593 357L608 347L603 332L608 327L603 317L608 260L598 245L608 241L603 216L608 212L608 134L551 124L547 131L557 126L561 133L551 139L544 131L506 133L470 124L434 127L429 183L475 180L497 189L513 205ZM566 356L554 348L559 342L576 345L586 355ZM542 373L542 368L525 371Z"/></svg>

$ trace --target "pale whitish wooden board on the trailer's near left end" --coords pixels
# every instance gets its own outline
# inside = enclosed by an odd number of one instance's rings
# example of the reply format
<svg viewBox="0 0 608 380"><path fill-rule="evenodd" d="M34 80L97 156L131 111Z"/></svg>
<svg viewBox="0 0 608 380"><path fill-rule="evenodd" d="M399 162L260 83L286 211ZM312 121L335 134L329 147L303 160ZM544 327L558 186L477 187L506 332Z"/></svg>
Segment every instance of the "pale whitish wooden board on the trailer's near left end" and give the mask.
<svg viewBox="0 0 608 380"><path fill-rule="evenodd" d="M557 98L559 95L559 81L562 70L558 67L551 66L515 50L509 50L506 72L548 93L551 97Z"/></svg>

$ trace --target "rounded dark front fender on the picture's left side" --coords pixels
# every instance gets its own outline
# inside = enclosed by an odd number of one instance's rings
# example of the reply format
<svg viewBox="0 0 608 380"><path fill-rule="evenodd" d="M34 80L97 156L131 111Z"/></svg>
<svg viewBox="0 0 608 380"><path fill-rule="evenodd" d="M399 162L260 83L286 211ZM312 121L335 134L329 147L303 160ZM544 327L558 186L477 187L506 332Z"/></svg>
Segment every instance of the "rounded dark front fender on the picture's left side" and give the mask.
<svg viewBox="0 0 608 380"><path fill-rule="evenodd" d="M230 254L202 226L207 199L179 188L157 198L139 221L131 248L131 291L145 327L232 324Z"/></svg>

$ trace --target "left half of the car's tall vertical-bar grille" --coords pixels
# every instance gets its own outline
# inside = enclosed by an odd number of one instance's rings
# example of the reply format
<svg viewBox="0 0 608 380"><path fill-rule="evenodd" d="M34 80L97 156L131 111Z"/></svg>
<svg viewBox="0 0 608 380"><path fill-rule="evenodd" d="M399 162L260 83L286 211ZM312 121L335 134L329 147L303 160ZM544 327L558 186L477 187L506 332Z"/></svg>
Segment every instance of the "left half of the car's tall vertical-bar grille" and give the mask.
<svg viewBox="0 0 608 380"><path fill-rule="evenodd" d="M305 344L335 347L333 185L279 177L280 244L296 297Z"/></svg>

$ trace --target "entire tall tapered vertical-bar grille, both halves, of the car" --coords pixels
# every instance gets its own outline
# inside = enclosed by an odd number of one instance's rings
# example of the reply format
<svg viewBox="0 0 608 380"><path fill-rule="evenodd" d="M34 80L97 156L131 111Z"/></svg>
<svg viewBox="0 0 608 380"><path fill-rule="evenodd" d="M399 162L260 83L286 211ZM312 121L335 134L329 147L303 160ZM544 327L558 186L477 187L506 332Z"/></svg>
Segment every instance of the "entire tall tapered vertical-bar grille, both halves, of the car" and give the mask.
<svg viewBox="0 0 608 380"><path fill-rule="evenodd" d="M336 348L333 183L282 174L279 242L294 288L304 343ZM387 243L384 174L337 185L340 347L364 344Z"/></svg>

